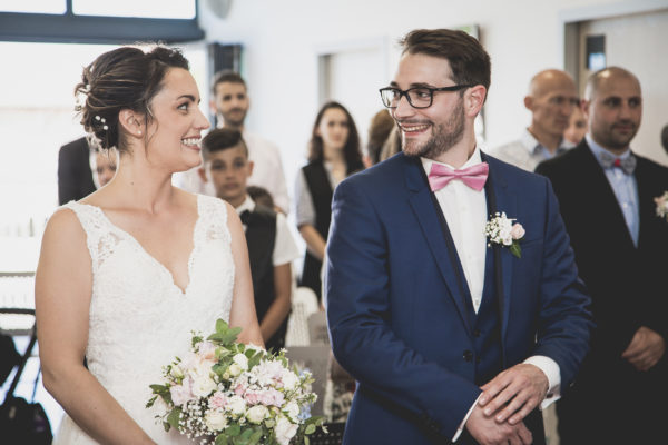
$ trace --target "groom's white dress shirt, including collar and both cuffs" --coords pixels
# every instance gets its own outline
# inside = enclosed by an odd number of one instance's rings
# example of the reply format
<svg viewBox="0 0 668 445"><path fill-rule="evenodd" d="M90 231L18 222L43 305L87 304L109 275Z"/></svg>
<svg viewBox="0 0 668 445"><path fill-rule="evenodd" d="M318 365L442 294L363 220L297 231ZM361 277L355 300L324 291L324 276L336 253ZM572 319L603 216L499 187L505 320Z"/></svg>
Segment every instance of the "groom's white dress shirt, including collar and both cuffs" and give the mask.
<svg viewBox="0 0 668 445"><path fill-rule="evenodd" d="M438 162L432 159L421 158L421 160L422 167L428 176L433 164L441 164L455 169L453 166ZM472 167L481 162L480 148L477 147L473 155L471 155L469 160L466 160L460 169ZM484 226L488 220L487 196L484 189L477 191L461 180L452 180L434 195L436 196L443 216L448 221L448 228L452 235L460 264L462 265L462 269L464 269L464 277L471 293L473 309L478 314L482 301L485 255L488 251L488 240L484 235ZM543 409L559 398L558 393L561 384L559 365L550 357L539 355L527 358L524 363L537 366L548 378L548 397L541 404L541 409ZM462 421L452 439L453 442L459 438L477 403L478 399Z"/></svg>

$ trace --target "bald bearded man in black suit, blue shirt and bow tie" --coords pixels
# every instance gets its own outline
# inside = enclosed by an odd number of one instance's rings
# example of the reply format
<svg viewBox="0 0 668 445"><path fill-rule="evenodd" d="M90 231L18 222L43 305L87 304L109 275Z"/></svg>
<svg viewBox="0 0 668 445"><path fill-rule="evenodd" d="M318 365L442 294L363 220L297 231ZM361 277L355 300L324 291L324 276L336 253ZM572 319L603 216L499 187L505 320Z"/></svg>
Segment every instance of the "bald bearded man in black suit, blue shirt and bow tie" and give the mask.
<svg viewBox="0 0 668 445"><path fill-rule="evenodd" d="M668 222L655 198L668 190L668 169L630 148L642 116L636 76L595 72L583 106L584 140L537 168L552 181L597 323L576 385L558 402L561 445L664 444Z"/></svg>

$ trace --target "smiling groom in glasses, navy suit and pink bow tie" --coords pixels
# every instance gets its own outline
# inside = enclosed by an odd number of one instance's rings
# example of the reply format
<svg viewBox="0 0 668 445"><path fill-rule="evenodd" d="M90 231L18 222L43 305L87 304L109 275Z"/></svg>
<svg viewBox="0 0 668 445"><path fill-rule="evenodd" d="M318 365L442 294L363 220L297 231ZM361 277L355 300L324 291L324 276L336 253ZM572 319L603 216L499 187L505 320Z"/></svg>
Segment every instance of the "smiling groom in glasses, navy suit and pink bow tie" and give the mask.
<svg viewBox="0 0 668 445"><path fill-rule="evenodd" d="M544 443L537 407L571 385L592 327L556 198L477 146L478 40L415 30L402 44L381 96L403 152L333 201L327 317L358 382L344 443ZM512 236L485 237L497 212Z"/></svg>

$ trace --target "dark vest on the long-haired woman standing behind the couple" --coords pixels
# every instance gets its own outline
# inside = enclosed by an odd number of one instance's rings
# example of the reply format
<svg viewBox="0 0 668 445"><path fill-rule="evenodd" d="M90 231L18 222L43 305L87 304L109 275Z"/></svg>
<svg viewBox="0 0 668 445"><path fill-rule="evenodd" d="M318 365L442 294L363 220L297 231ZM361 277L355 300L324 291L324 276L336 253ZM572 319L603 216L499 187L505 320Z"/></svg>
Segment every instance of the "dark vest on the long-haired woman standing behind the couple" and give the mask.
<svg viewBox="0 0 668 445"><path fill-rule="evenodd" d="M322 161L311 161L302 168L302 171L315 209L315 229L326 240L332 220L332 197L334 195L327 171ZM299 285L313 289L318 300L322 290L320 278L322 266L323 263L306 250Z"/></svg>

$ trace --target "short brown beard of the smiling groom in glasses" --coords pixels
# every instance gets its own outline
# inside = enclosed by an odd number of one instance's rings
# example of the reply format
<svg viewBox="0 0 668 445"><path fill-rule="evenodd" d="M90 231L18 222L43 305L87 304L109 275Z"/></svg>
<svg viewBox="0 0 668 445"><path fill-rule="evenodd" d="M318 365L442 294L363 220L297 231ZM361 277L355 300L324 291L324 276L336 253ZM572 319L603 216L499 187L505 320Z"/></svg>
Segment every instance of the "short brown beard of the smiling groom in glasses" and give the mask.
<svg viewBox="0 0 668 445"><path fill-rule="evenodd" d="M426 142L420 146L416 141L406 141L402 137L402 150L407 156L420 156L428 159L435 159L445 151L450 150L455 144L462 140L464 135L464 105L459 100L458 106L452 111L452 116L446 122L434 125L433 135Z"/></svg>

